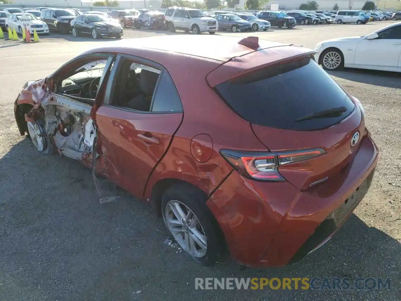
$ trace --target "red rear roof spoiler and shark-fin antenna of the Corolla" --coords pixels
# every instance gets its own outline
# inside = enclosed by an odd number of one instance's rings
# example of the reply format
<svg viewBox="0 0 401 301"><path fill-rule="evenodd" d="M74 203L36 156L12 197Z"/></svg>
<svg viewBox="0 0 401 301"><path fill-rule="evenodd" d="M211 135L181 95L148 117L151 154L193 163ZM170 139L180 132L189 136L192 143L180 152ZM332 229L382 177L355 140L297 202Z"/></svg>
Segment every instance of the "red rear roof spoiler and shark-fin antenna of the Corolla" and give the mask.
<svg viewBox="0 0 401 301"><path fill-rule="evenodd" d="M316 53L312 49L292 44L260 49L257 48L259 46L258 41L249 38L254 37L242 39L239 44L255 49L255 51L239 57L233 57L210 71L206 75L206 80L211 87L258 69L312 57Z"/></svg>

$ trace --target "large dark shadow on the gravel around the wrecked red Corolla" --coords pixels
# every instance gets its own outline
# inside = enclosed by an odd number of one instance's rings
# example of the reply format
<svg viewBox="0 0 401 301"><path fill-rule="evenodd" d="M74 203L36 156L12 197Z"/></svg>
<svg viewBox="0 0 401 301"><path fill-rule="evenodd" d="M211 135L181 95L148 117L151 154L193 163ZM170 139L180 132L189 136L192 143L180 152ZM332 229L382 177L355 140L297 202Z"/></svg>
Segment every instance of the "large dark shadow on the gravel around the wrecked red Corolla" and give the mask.
<svg viewBox="0 0 401 301"><path fill-rule="evenodd" d="M16 126L12 128L16 135ZM351 290L294 287L203 291L194 289L196 277L348 277L351 283L358 277L382 277L392 279L392 290L380 291L380 298L399 299L400 242L355 215L297 264L243 268L226 257L206 268L164 243L164 223L148 204L105 179L104 191L119 199L99 204L87 167L66 157L42 155L27 138L0 159L0 183L2 300L327 301L355 296ZM375 290L358 294L361 300L378 297Z"/></svg>

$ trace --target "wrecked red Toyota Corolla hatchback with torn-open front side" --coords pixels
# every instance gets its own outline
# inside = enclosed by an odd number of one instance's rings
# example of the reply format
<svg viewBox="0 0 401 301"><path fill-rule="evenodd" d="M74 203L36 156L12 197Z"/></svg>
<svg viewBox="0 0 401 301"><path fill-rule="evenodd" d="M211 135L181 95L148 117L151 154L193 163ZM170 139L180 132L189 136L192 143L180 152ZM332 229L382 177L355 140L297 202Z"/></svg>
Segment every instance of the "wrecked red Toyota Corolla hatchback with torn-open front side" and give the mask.
<svg viewBox="0 0 401 301"><path fill-rule="evenodd" d="M197 262L227 244L249 266L296 262L371 185L377 146L360 102L314 51L255 37L165 36L87 51L28 82L15 118L152 203Z"/></svg>

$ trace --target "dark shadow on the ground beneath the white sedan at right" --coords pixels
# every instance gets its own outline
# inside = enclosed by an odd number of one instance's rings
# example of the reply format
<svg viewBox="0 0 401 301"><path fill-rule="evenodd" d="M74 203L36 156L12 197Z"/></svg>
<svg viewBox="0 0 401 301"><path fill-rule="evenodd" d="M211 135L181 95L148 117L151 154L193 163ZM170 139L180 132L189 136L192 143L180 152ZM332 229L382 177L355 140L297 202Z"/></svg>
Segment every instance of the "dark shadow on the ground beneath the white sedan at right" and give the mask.
<svg viewBox="0 0 401 301"><path fill-rule="evenodd" d="M327 73L349 81L395 89L401 88L401 73L399 72L346 68L343 71L327 71Z"/></svg>

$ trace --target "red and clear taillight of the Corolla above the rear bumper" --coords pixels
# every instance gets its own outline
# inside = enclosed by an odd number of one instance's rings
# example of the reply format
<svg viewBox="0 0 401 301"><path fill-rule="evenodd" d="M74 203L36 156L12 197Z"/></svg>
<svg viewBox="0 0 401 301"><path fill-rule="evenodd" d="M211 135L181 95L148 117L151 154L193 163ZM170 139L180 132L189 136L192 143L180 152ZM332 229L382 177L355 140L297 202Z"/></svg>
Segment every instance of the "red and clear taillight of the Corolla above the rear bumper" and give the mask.
<svg viewBox="0 0 401 301"><path fill-rule="evenodd" d="M220 150L220 155L245 177L261 181L286 181L280 175L280 165L309 160L326 153L322 148L290 150L284 152L253 152Z"/></svg>

